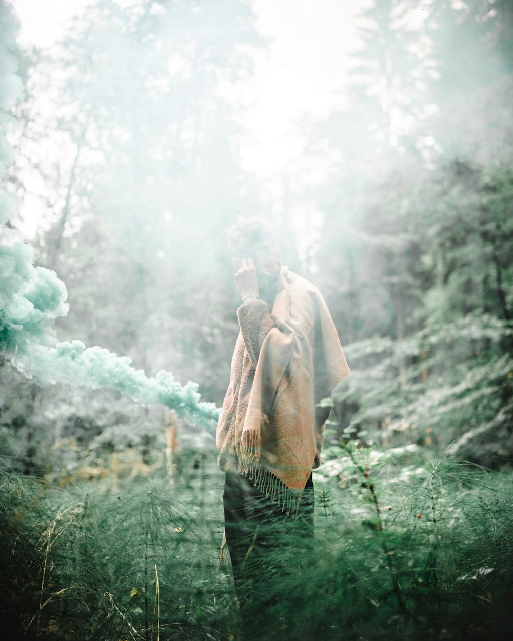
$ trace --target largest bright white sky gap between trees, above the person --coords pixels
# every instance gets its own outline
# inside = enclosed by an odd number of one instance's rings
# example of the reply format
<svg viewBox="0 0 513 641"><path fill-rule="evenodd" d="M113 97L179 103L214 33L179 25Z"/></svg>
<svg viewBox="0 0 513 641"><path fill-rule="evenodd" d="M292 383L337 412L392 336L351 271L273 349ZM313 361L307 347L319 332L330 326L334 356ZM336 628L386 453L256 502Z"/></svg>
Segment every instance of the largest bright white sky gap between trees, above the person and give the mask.
<svg viewBox="0 0 513 641"><path fill-rule="evenodd" d="M347 54L357 45L355 13L362 4L254 0L258 30L269 40L257 54L255 103L246 122L256 137L253 145L259 141L257 149L248 149L255 171L272 174L298 153L299 117L323 117L341 103Z"/></svg>

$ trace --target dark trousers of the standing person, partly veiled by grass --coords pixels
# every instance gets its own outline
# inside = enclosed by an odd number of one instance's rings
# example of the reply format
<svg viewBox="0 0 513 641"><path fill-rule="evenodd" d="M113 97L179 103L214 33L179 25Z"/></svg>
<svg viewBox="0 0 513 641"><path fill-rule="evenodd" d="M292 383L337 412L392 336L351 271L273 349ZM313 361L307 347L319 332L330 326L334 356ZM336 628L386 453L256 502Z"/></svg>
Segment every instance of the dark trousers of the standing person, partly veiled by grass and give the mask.
<svg viewBox="0 0 513 641"><path fill-rule="evenodd" d="M313 562L312 475L296 516L282 512L278 504L271 503L237 472L226 472L223 504L226 543L242 621L255 626L265 617L269 622L273 613L278 616L282 606L287 609L291 594L288 587ZM246 636L252 638L247 628Z"/></svg>

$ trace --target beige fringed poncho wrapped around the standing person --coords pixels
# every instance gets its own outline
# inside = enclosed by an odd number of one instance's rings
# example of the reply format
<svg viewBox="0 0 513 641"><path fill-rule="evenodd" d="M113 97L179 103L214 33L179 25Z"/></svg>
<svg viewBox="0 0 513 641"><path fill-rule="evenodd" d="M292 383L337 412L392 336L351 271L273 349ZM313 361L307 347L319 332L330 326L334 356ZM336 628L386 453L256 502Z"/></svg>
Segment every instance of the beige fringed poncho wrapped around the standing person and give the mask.
<svg viewBox="0 0 513 641"><path fill-rule="evenodd" d="M221 470L238 469L282 508L295 511L319 466L328 410L315 404L349 376L319 290L282 267L271 313L251 299L237 310L240 333L217 424Z"/></svg>

